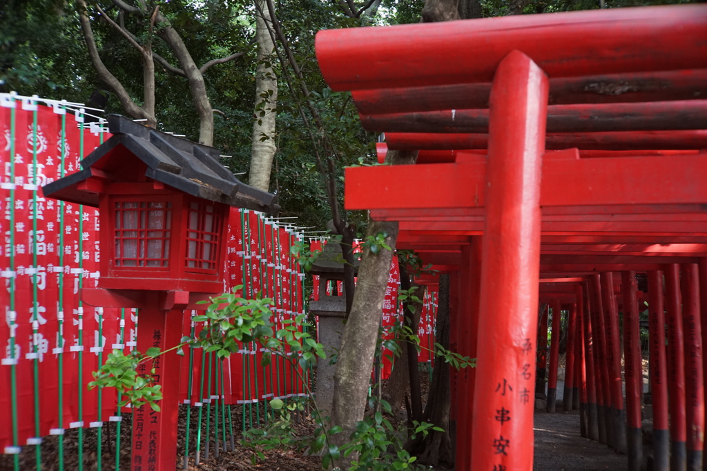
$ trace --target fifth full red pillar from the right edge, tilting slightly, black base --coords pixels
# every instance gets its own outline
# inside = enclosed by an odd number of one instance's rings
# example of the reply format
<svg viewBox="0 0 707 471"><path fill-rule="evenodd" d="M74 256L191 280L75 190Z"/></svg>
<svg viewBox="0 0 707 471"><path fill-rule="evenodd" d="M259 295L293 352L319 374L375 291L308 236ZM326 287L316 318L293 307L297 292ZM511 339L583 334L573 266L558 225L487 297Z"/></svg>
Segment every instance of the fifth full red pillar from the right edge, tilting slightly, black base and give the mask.
<svg viewBox="0 0 707 471"><path fill-rule="evenodd" d="M614 292L614 274L602 273L602 307L606 339L607 373L612 400L612 446L617 453L626 453L626 411L621 387L621 344L619 343L619 311Z"/></svg>

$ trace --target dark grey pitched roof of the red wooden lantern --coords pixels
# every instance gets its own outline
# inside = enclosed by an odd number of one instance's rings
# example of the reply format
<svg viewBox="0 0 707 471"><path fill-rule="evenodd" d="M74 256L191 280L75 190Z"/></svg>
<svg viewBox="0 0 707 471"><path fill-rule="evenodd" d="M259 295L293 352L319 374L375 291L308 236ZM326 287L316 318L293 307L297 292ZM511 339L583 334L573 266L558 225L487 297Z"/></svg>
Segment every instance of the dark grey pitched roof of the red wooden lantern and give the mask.
<svg viewBox="0 0 707 471"><path fill-rule="evenodd" d="M109 114L107 120L113 136L81 160L79 172L44 186L45 196L97 207L100 193L88 191L82 184L88 179L111 181L107 160L115 159L115 151L124 148L145 163L145 176L150 179L209 201L278 213L277 196L239 181L218 162L218 149L156 131L117 114ZM124 157L121 160L117 165L129 165ZM114 162L110 167L115 169L117 165Z"/></svg>

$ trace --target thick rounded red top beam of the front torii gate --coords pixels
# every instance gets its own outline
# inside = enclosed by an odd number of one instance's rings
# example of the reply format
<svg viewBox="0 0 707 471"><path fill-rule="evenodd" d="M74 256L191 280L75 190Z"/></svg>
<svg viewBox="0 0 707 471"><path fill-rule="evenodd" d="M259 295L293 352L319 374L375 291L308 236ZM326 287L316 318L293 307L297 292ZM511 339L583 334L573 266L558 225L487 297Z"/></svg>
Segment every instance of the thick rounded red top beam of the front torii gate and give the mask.
<svg viewBox="0 0 707 471"><path fill-rule="evenodd" d="M552 77L705 68L706 22L697 5L593 10L326 30L315 47L333 90L445 85L491 81L516 49Z"/></svg>

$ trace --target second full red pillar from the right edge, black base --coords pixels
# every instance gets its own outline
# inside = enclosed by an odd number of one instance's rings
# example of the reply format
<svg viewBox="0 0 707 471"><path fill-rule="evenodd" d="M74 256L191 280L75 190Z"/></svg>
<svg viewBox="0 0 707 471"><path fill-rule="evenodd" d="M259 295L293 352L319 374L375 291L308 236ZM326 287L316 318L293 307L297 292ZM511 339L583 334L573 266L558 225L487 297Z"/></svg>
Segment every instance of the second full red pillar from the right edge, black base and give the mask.
<svg viewBox="0 0 707 471"><path fill-rule="evenodd" d="M679 267L665 266L665 309L667 311L667 380L670 384L670 469L686 466L685 359L680 312Z"/></svg>

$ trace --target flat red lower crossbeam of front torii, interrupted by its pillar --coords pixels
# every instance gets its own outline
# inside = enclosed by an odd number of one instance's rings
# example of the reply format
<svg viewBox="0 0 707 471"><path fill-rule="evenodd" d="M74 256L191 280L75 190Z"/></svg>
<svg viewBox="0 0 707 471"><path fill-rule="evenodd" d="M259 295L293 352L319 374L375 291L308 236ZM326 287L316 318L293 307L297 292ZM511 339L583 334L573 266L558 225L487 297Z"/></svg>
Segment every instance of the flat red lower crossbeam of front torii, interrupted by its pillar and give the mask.
<svg viewBox="0 0 707 471"><path fill-rule="evenodd" d="M558 154L555 157L559 158L543 163L543 207L707 201L707 188L700 183L707 180L707 154L602 159L565 155L567 158ZM434 191L420 191L409 184L420 175ZM625 179L624 175L633 178ZM481 208L485 205L485 179L483 162L351 167L346 169L346 208ZM647 187L660 191L645 191Z"/></svg>

